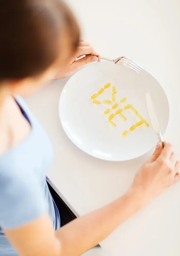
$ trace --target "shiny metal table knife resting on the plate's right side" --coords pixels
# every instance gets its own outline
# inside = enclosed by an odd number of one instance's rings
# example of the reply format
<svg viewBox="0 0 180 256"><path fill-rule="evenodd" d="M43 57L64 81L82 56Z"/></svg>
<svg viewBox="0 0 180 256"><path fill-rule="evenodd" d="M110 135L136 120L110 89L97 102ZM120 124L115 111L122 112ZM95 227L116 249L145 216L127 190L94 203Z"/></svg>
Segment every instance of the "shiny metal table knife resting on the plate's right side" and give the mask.
<svg viewBox="0 0 180 256"><path fill-rule="evenodd" d="M157 119L157 115L154 110L154 105L152 102L151 94L147 91L145 96L146 96L146 106L148 109L148 114L149 114L149 118L151 120L152 127L153 127L154 131L157 133L160 143L162 143L162 145L164 147L164 140L163 140L163 137L162 137L162 134L160 131L160 125L159 125L159 122Z"/></svg>

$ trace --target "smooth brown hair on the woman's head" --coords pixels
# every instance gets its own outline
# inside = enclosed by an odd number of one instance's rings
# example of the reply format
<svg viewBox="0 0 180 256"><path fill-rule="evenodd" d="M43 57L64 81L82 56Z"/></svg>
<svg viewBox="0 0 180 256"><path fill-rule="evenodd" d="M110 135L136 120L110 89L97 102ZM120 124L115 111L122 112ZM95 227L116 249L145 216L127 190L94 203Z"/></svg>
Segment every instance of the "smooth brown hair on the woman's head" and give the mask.
<svg viewBox="0 0 180 256"><path fill-rule="evenodd" d="M0 80L44 72L61 56L67 33L75 50L79 27L62 0L0 0Z"/></svg>

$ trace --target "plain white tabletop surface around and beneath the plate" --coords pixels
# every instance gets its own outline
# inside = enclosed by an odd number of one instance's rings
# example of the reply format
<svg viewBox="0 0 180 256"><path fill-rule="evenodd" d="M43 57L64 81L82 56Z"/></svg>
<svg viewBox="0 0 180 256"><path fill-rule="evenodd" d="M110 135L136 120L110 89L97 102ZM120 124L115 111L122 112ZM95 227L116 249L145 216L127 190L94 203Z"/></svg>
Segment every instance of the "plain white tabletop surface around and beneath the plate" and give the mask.
<svg viewBox="0 0 180 256"><path fill-rule="evenodd" d="M164 87L170 102L165 139L180 153L179 0L69 0L82 24L82 37L103 56L127 56ZM122 195L148 155L110 163L81 152L61 127L58 101L67 79L54 81L27 102L54 145L49 179L78 215ZM84 87L86 84L84 84ZM180 184L171 187L111 234L101 246L113 256L180 255Z"/></svg>

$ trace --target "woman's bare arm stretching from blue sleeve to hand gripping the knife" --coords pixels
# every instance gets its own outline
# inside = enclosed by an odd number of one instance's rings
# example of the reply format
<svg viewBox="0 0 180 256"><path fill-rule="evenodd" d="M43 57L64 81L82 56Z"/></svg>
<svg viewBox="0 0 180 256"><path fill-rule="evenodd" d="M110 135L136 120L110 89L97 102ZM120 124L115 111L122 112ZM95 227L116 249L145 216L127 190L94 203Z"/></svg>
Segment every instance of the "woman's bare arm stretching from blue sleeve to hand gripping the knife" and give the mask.
<svg viewBox="0 0 180 256"><path fill-rule="evenodd" d="M105 239L168 186L180 180L180 162L165 143L137 172L131 189L121 198L75 219L56 232L48 215L15 230L5 230L20 256L80 256Z"/></svg>

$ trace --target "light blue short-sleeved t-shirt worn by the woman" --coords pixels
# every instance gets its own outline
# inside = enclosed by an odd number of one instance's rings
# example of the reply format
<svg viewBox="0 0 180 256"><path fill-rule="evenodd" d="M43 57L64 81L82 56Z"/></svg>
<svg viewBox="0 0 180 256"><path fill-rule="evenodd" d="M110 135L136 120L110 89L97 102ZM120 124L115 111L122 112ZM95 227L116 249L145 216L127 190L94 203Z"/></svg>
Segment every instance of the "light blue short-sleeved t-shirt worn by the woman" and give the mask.
<svg viewBox="0 0 180 256"><path fill-rule="evenodd" d="M3 229L21 227L47 212L55 230L60 228L59 212L46 183L52 145L23 99L18 96L16 100L31 124L31 132L0 156L0 256L17 256Z"/></svg>

